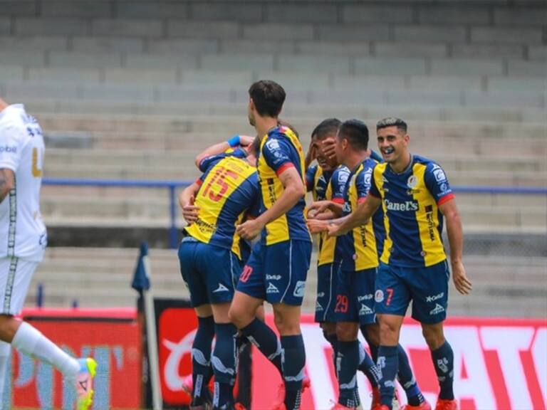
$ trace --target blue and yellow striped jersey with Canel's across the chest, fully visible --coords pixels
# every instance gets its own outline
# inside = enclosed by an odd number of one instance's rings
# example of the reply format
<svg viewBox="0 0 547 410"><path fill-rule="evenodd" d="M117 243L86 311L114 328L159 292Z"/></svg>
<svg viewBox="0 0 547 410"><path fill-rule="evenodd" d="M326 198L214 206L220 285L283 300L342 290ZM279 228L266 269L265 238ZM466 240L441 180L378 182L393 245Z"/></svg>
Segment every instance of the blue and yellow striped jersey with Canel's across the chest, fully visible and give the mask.
<svg viewBox="0 0 547 410"><path fill-rule="evenodd" d="M382 200L386 238L381 256L393 266L422 267L444 261L439 206L454 198L438 164L414 155L401 174L378 164L370 194Z"/></svg>

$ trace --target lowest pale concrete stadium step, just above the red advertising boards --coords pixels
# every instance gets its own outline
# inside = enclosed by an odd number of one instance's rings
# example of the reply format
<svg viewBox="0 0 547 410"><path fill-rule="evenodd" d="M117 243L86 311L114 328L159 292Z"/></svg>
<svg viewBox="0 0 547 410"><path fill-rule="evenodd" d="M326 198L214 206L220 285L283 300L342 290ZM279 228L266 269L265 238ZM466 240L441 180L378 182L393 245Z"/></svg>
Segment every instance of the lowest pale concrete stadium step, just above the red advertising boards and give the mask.
<svg viewBox="0 0 547 410"><path fill-rule="evenodd" d="M133 306L130 288L137 249L49 248L29 289L26 305L36 303L36 286L44 286L47 307ZM316 253L303 311L313 312L316 299ZM150 250L152 290L165 297L187 297L174 251ZM449 314L544 317L547 312L545 258L466 256L467 273L474 282L471 295L459 295L450 284Z"/></svg>

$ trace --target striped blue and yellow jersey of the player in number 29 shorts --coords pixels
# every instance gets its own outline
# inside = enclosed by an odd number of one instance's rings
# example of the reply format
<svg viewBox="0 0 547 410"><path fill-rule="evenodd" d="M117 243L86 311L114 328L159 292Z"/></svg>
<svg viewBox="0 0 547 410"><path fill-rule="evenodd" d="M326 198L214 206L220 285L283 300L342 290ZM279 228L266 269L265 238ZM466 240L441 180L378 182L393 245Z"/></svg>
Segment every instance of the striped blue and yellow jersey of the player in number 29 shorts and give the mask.
<svg viewBox="0 0 547 410"><path fill-rule="evenodd" d="M365 201L370 191L373 169L377 162L367 158L361 162L348 177L345 187L343 215L349 215ZM357 226L340 237L344 270L364 270L376 268L379 251L384 241L382 211L376 211L365 225Z"/></svg>

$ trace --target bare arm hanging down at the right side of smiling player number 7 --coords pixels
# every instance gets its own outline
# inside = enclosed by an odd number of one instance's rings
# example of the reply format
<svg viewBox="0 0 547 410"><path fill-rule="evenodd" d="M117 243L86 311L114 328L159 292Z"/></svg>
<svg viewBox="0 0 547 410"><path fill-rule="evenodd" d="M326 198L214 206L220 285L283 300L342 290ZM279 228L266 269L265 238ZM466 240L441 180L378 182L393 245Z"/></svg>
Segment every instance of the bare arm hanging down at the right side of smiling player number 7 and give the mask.
<svg viewBox="0 0 547 410"><path fill-rule="evenodd" d="M439 211L447 221L447 235L450 243L450 265L452 266L452 278L459 293L467 295L472 290L472 283L465 272L462 254L464 250L464 232L462 219L454 199L444 201L439 205Z"/></svg>

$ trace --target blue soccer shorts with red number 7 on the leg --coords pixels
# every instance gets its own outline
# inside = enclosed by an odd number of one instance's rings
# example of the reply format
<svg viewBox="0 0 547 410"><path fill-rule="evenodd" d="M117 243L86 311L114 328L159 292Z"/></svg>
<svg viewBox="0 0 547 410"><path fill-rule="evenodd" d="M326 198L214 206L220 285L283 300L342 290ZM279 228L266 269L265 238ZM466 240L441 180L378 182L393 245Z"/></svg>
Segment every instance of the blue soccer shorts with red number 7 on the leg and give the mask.
<svg viewBox="0 0 547 410"><path fill-rule="evenodd" d="M447 317L447 261L427 268L380 265L376 280L378 314L404 316L412 301L412 317L422 323L438 323Z"/></svg>

